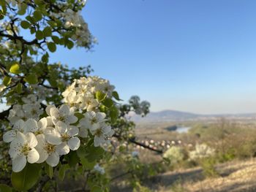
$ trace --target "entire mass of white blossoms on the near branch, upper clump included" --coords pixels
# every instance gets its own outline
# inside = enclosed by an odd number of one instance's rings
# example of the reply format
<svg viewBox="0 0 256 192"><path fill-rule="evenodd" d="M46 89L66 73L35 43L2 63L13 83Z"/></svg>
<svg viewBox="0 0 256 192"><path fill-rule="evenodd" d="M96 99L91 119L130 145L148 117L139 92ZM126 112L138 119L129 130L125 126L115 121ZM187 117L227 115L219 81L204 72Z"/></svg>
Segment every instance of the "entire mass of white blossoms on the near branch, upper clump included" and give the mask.
<svg viewBox="0 0 256 192"><path fill-rule="evenodd" d="M46 162L50 166L57 166L61 155L78 150L81 138L93 137L95 147L109 143L114 131L106 122L106 114L95 110L99 104L96 99L94 108L86 106L85 101L91 101L95 90L105 90L106 83L111 85L99 77L81 78L74 83L70 86L72 89L67 88L63 95L78 95L80 103L76 106L70 107L70 103L60 107L48 105L44 112L40 105L42 101L33 94L23 98L23 104L13 105L8 117L12 129L3 136L4 142L10 142L13 172L20 172L26 162ZM82 88L84 92L80 93ZM78 119L75 112L79 112L83 118Z"/></svg>

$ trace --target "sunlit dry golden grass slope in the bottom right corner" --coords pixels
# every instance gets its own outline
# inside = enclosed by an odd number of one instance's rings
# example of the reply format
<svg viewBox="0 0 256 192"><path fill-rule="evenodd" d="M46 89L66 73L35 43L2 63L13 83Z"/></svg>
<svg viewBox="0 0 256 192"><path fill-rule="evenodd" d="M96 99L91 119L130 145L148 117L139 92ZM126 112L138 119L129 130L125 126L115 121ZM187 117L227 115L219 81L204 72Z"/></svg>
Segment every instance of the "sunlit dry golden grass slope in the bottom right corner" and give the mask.
<svg viewBox="0 0 256 192"><path fill-rule="evenodd" d="M157 176L157 191L221 192L256 191L256 160L233 161L217 166L219 177L205 178L202 169L167 172Z"/></svg>

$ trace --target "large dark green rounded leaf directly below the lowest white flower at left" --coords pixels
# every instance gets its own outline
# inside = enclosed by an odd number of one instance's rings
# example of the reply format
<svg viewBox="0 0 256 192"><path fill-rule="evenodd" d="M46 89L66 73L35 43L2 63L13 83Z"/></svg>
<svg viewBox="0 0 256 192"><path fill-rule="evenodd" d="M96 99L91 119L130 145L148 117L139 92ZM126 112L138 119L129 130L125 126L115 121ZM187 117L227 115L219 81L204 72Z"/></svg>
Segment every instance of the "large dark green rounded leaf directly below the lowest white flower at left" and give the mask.
<svg viewBox="0 0 256 192"><path fill-rule="evenodd" d="M26 164L21 172L12 172L12 186L18 191L32 188L40 177L40 164Z"/></svg>

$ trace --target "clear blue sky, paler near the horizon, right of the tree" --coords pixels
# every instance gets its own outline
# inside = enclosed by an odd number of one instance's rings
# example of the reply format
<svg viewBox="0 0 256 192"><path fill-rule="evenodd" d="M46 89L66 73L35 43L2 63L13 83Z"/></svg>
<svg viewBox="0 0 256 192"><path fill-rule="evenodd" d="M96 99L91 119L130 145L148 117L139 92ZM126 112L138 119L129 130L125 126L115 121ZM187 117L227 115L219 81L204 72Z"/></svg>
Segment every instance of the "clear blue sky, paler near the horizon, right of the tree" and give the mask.
<svg viewBox="0 0 256 192"><path fill-rule="evenodd" d="M99 44L51 61L91 64L122 99L151 111L256 112L255 0L88 0L82 15Z"/></svg>

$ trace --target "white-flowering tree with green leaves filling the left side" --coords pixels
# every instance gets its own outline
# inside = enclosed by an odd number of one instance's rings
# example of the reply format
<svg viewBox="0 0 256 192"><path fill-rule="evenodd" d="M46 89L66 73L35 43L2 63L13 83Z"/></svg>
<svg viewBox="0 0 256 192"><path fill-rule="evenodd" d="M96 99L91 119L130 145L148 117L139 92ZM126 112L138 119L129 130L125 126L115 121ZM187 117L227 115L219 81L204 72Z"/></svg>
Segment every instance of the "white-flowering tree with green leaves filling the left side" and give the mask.
<svg viewBox="0 0 256 192"><path fill-rule="evenodd" d="M89 76L91 66L49 63L57 47L93 47L85 4L0 1L0 191L54 191L66 174L83 175L84 191L108 191L111 138L132 142L125 115L149 112L138 96L120 104L108 80Z"/></svg>

